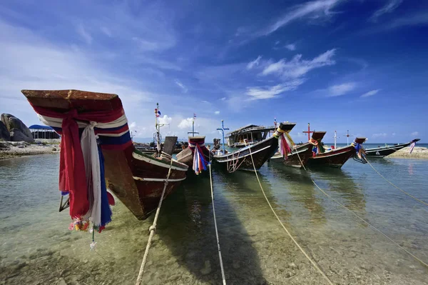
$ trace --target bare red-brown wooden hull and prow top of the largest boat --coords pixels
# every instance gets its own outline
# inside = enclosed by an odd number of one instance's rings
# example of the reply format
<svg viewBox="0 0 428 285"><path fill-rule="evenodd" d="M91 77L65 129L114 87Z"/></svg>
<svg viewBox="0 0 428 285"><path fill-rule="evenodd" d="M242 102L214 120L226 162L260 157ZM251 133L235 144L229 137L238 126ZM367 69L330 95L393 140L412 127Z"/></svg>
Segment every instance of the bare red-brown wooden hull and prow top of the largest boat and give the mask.
<svg viewBox="0 0 428 285"><path fill-rule="evenodd" d="M116 94L78 90L23 90L22 93L33 106L63 114L71 110L84 114L122 109L121 99ZM98 134L104 156L106 185L137 219L146 219L158 206L168 175L170 159L143 154L135 149L132 142L121 149L111 149L108 144L112 141L131 141L128 124L121 126L121 129L126 131L115 136ZM187 170L187 165L173 161L164 198L185 179Z"/></svg>

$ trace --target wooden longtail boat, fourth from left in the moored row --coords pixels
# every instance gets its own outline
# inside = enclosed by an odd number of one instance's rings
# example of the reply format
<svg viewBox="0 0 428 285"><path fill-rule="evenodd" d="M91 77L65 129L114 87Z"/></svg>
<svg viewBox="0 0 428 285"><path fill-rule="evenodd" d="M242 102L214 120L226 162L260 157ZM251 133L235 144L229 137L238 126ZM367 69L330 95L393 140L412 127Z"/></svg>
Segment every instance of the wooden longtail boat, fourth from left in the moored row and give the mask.
<svg viewBox="0 0 428 285"><path fill-rule="evenodd" d="M295 124L292 125L292 127L294 126ZM313 141L320 141L325 133L325 131L313 131L311 140L305 142L305 144L293 145L294 142L290 141L291 152L287 154L287 159L284 159L285 156L280 151L277 151L270 161L297 168L305 166L307 161L312 157Z"/></svg>

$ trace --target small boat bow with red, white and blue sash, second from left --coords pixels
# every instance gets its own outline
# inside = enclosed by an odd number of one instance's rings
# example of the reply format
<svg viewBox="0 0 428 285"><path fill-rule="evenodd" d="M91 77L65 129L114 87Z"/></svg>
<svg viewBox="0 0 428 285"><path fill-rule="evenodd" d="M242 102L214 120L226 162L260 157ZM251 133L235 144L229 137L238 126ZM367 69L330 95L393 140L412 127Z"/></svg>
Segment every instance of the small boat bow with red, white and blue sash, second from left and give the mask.
<svg viewBox="0 0 428 285"><path fill-rule="evenodd" d="M177 154L177 160L189 167L188 174L200 174L210 162L210 150L205 146L205 136L189 136L188 147Z"/></svg>

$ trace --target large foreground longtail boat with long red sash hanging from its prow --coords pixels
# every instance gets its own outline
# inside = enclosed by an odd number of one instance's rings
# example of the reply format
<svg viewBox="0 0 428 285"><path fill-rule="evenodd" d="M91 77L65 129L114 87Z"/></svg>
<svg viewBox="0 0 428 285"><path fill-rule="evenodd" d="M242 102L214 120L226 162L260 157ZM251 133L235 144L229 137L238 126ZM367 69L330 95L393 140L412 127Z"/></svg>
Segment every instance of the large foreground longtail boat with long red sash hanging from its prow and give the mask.
<svg viewBox="0 0 428 285"><path fill-rule="evenodd" d="M135 148L118 95L78 90L22 93L41 121L61 135L59 189L69 195L73 219L83 219L88 216L88 209L99 207L96 189L91 185L91 179L97 175L101 192L108 188L137 219L146 219L158 206L169 169L164 198L186 178L188 166L171 157L176 137L167 137L163 151L158 147L158 154L153 156ZM84 137L85 134L89 135ZM90 147L88 139L92 139ZM98 157L100 164L96 169L93 166ZM88 158L92 160L87 161ZM101 200L101 216L105 200ZM106 209L110 210L108 204Z"/></svg>

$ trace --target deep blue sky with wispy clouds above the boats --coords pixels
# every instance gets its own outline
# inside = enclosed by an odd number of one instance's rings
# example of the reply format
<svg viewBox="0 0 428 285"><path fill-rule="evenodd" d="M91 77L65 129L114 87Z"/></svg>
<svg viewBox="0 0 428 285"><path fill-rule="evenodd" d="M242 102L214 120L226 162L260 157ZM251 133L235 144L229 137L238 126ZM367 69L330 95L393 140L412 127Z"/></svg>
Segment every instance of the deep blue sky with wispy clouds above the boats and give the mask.
<svg viewBox="0 0 428 285"><path fill-rule="evenodd" d="M268 3L268 4L267 4ZM137 136L220 120L295 121L292 136L346 130L427 142L428 2L1 1L0 112L39 121L21 89L121 96Z"/></svg>

